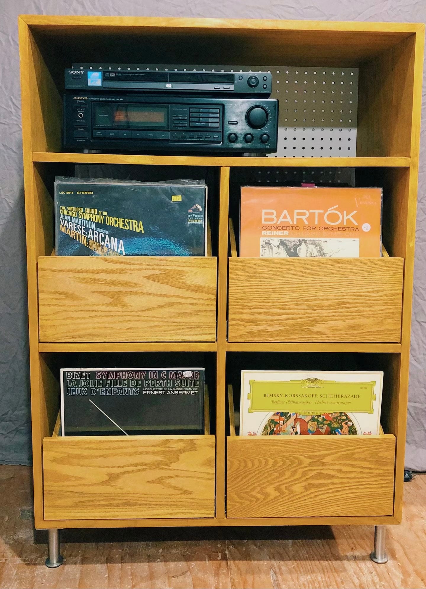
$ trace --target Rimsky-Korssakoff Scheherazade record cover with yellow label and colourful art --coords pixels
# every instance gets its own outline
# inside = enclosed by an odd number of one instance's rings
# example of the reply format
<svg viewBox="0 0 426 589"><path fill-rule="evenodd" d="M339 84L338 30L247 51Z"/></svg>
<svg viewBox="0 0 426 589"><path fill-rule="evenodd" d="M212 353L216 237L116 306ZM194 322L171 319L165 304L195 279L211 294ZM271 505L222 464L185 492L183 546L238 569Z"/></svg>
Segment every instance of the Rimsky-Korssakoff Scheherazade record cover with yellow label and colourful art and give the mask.
<svg viewBox="0 0 426 589"><path fill-rule="evenodd" d="M240 435L377 435L383 372L242 370Z"/></svg>

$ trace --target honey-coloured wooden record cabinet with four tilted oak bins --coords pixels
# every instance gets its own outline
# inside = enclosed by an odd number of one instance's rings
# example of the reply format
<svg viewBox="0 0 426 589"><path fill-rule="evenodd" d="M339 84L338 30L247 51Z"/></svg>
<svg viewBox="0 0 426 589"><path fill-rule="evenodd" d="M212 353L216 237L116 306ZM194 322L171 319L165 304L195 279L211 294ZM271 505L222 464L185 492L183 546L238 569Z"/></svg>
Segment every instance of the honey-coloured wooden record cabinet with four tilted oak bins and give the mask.
<svg viewBox="0 0 426 589"><path fill-rule="evenodd" d="M19 18L19 44L35 527L399 523L424 25L23 15ZM200 64L245 62L261 67L262 64L285 63L359 68L356 157L62 153L61 92L65 67L77 59L183 64L193 62L190 51L194 46ZM47 177L46 167L79 163L217 168L219 223L212 234L217 256L194 260L56 257L52 181ZM233 168L306 166L385 170L388 195L384 216L385 257L365 260L238 258L229 224L230 198L235 198L230 194ZM197 267L195 273L190 272L191 264ZM178 287L176 275L182 273L186 278ZM262 286L272 285L273 292L282 293L285 284L277 276L286 275L291 283L288 294L281 298L269 297L268 303L264 303ZM85 286L88 276L92 280L90 288ZM166 325L167 316L163 319L161 313L153 310L150 297L156 292L156 276L161 276L160 280L166 284L166 295L176 305L172 326ZM116 296L110 294L108 298L96 287L97 281L101 284L111 280L113 289L118 292L124 279L130 284L130 293L123 306L117 303ZM327 300L323 302L318 297L321 284L326 285ZM78 305L73 299L76 292L80 297ZM98 297L103 313L99 323L94 324L95 329L90 330L87 324L95 321ZM186 309L194 305L199 310L199 329L190 329L179 303ZM299 313L300 309L308 309L308 315ZM282 319L284 312L286 320ZM129 316L134 313L133 324L126 323L126 313ZM151 336L137 325L142 318L152 327ZM273 329L268 329L271 324ZM184 436L187 440L183 442L164 440L161 436L157 439L132 436L137 438L134 442L117 438L117 446L111 439L101 457L101 441L98 442L97 436L78 438L74 442L54 439L58 428L58 382L51 371L51 356L58 352L66 355L68 352L156 351L216 355L216 387L210 391L216 419L211 434L193 436L193 439ZM321 440L247 439L233 435L226 409L226 362L233 352L352 352L377 357L377 368L383 367L385 371L383 434L371 438ZM134 448L130 451L124 448L125 442L135 444ZM195 458L185 458L186 451L194 452ZM168 452L174 453L174 461L164 459ZM134 464L132 460L139 454L141 458ZM105 471L123 466L123 456L130 461L131 474L120 479L122 501L115 502L113 495L105 492L101 481ZM169 482L170 488L179 470L176 488L181 485L180 491L184 494L185 489L196 487L201 480L199 491L204 493L203 497L191 499L189 495L184 505L179 501L174 505L173 498L168 495L170 489L165 485L155 492L164 495L162 504L167 508L163 511L152 508L151 498L134 492L156 476L149 456L153 457L155 468L160 468L161 477ZM158 456L162 458L158 460ZM335 456L344 463L344 472L336 474L336 481L323 487L323 472L332 468ZM70 507L72 501L61 504L59 499L52 499L52 492L61 495L61 488L52 487L52 472L55 484L61 487L66 480L64 469L70 468L70 464L75 472L81 465L90 479L87 487L83 484L77 489L80 507L74 511ZM299 492L303 497L298 497L296 489L285 480L270 482L265 476L265 464L269 469L279 469L284 464L293 466L298 469L298 480L313 481L313 487L302 485ZM381 498L374 501L371 489L366 488L368 485ZM65 492L64 488L62 490ZM97 493L101 501L94 513L93 497ZM262 500L253 500L257 493ZM335 509L326 499L332 494L339 498ZM321 497L320 505L318 498ZM359 501L355 501L356 497Z"/></svg>

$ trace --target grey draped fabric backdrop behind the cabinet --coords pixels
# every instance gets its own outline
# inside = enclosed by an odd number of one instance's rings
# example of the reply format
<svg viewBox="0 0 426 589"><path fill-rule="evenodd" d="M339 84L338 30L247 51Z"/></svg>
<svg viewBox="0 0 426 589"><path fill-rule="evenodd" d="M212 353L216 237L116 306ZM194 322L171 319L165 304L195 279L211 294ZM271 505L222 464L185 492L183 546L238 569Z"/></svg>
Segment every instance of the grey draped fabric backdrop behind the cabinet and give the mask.
<svg viewBox="0 0 426 589"><path fill-rule="evenodd" d="M425 22L424 0L0 0L0 463L30 464L19 14ZM300 64L303 65L303 64ZM423 115L426 106L423 104ZM423 117L424 119L425 117ZM423 120L406 466L426 471L426 164Z"/></svg>

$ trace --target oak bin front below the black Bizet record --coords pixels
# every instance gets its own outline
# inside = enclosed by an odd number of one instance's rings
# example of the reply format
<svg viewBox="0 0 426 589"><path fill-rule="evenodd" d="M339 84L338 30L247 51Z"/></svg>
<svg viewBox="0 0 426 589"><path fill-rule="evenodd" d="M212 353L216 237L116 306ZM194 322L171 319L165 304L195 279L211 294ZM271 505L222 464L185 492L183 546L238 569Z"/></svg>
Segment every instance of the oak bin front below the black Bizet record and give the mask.
<svg viewBox="0 0 426 589"><path fill-rule="evenodd" d="M213 435L44 438L44 517L214 517L214 448Z"/></svg>

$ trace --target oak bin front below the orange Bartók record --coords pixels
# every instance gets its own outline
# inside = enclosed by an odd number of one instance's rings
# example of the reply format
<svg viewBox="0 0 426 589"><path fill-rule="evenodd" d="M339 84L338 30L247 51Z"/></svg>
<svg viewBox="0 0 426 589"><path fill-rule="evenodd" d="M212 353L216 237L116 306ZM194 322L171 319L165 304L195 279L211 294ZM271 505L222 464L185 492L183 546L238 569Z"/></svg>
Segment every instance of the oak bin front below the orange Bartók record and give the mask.
<svg viewBox="0 0 426 589"><path fill-rule="evenodd" d="M230 342L399 342L402 258L229 259Z"/></svg>

